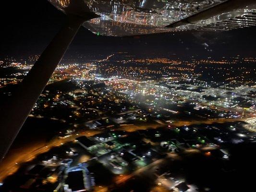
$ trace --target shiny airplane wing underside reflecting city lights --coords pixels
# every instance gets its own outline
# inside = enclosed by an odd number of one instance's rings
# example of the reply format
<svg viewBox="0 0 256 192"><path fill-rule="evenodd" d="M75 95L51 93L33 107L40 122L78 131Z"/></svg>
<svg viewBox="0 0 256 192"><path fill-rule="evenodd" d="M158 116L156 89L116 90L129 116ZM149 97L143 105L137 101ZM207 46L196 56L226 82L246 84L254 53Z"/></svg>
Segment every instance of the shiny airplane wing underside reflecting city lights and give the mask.
<svg viewBox="0 0 256 192"><path fill-rule="evenodd" d="M79 2L100 17L83 24L102 36L187 30L228 31L256 25L256 0L49 0L65 12Z"/></svg>

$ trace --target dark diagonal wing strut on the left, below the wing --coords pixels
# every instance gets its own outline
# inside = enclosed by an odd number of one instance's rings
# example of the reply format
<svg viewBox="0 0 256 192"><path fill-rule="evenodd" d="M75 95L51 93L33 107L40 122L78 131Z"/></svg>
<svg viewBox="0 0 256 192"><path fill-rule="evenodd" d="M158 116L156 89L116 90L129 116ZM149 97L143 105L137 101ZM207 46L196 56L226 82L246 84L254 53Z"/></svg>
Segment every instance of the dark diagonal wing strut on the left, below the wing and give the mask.
<svg viewBox="0 0 256 192"><path fill-rule="evenodd" d="M67 15L67 18L66 24L52 39L23 81L17 85L11 98L0 106L0 160L9 150L79 27L86 21L85 18L75 15Z"/></svg>

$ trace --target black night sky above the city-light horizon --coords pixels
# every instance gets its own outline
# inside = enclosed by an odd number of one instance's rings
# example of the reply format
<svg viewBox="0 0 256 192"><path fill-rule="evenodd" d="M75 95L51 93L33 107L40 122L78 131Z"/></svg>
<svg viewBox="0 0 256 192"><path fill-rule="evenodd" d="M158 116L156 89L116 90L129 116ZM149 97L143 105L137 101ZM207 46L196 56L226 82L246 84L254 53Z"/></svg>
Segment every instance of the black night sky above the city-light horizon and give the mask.
<svg viewBox="0 0 256 192"><path fill-rule="evenodd" d="M47 0L10 1L1 6L0 57L40 54L65 21ZM78 31L65 57L127 51L141 57L256 57L256 27L230 32L179 32L136 37L96 36Z"/></svg>

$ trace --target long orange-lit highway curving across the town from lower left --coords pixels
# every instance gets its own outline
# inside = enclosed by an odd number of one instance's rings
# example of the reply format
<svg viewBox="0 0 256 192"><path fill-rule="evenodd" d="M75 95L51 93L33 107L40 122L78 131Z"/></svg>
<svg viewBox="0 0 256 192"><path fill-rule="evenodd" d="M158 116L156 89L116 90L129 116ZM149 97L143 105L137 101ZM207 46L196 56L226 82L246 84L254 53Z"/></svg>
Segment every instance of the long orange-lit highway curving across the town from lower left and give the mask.
<svg viewBox="0 0 256 192"><path fill-rule="evenodd" d="M212 124L212 123L224 123L224 122L233 122L233 121L242 121L244 119L223 119L223 120L192 120L192 121L176 121L173 122L174 126L183 126L183 125L192 125L192 124ZM116 129L118 131L126 131L126 132L134 132L138 130L146 130L149 128L158 128L163 125L159 124L153 124L153 125L124 125L120 128ZM26 146L22 148L22 150L18 150L15 152L12 152L12 154L9 154L6 156L5 159L0 163L0 182L4 180L7 176L13 174L17 169L20 167L19 164L28 162L33 160L37 155L45 153L49 151L49 149L60 146L61 144L74 141L75 138L79 136L93 136L96 134L99 134L101 132L104 132L104 130L88 130L83 133L73 134L71 137L67 137L64 139L54 138L48 143L37 143L37 144L31 144L29 146ZM18 163L18 164L16 164Z"/></svg>

